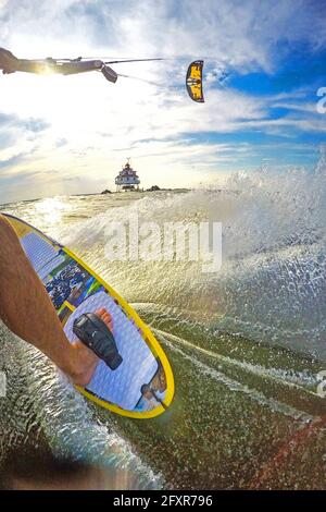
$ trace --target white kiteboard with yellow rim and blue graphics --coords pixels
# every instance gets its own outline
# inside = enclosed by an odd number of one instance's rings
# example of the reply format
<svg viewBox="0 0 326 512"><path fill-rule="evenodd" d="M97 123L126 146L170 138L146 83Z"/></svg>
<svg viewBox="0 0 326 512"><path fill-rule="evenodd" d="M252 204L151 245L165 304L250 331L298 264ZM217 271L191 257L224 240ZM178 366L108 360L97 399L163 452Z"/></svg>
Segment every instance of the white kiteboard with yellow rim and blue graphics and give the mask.
<svg viewBox="0 0 326 512"><path fill-rule="evenodd" d="M118 351L117 367L100 359L90 382L76 389L98 405L122 416L151 418L164 413L174 397L168 359L149 327L133 307L67 247L16 217L5 215L42 281L74 342L83 315L105 309Z"/></svg>

